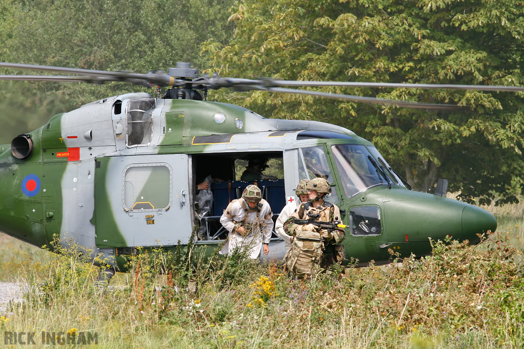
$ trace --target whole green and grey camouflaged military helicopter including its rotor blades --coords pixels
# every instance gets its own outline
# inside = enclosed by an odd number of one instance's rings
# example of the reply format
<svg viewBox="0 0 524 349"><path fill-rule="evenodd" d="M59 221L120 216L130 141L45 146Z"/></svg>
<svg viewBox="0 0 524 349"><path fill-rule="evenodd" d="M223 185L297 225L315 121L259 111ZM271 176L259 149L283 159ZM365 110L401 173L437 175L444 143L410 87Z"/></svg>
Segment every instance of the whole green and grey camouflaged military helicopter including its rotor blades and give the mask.
<svg viewBox="0 0 524 349"><path fill-rule="evenodd" d="M102 255L123 271L126 255L138 246L178 244L219 246L227 232L219 223L228 202L253 182L241 181L241 161L264 157L280 164L281 176L260 179L275 216L297 200L300 179L323 176L347 224L346 256L361 263L388 263L392 249L401 256L431 253L429 238L479 242L494 232L489 212L435 194L410 190L374 145L340 126L318 121L264 118L235 105L209 102L208 89L234 88L354 100L358 103L422 109L456 106L329 94L303 86L374 86L523 91L522 87L420 85L353 82L248 80L199 76L189 63L135 74L66 67L0 63L68 76L2 75L0 80L128 82L171 87L160 97L129 93L97 100L55 115L46 125L0 145L0 231L36 246L53 235ZM294 87L294 88L290 88ZM159 91L159 90L158 90ZM203 97L200 92L203 92ZM213 181L207 215L195 207L197 184ZM220 181L219 181L220 179ZM200 229L195 229L195 225ZM283 241L274 235L270 254L282 258Z"/></svg>

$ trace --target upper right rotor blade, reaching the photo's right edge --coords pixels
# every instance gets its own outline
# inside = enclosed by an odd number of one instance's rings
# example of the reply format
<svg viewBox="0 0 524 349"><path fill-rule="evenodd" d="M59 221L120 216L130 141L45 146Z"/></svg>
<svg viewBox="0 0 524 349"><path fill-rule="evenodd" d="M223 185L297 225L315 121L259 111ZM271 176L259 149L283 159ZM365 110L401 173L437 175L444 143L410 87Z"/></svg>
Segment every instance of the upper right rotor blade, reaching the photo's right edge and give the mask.
<svg viewBox="0 0 524 349"><path fill-rule="evenodd" d="M497 86L497 85L453 85L453 84L409 84L409 83L378 83L378 82L344 82L344 81L289 81L267 80L272 86L337 86L337 87L380 87L380 88L424 88L424 89L471 89L475 91L505 91L524 92L522 86Z"/></svg>

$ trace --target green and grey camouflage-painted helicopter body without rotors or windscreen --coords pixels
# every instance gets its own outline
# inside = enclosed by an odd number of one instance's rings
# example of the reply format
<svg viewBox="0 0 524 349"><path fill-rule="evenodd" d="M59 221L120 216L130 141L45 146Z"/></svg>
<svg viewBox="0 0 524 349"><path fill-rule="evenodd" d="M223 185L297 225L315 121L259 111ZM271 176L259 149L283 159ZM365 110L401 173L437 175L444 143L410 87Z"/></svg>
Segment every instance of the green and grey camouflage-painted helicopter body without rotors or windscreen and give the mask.
<svg viewBox="0 0 524 349"><path fill-rule="evenodd" d="M195 220L192 156L202 153L281 153L285 194L294 197L303 179L299 149L321 147L333 174L331 200L346 212L345 223L370 207L377 212L376 234L346 232L346 256L361 262L387 262L389 248L422 255L431 251L428 238L475 240L477 233L496 229L488 212L411 192L393 177L389 185L345 195L331 147L374 147L328 123L266 119L234 105L136 93L56 115L29 135L34 151L27 159L14 157L9 145L0 148L0 230L36 246L57 236L63 245L85 246L119 267L122 260L116 255L133 247L190 241ZM280 242L270 245L277 251L274 256L285 253Z"/></svg>

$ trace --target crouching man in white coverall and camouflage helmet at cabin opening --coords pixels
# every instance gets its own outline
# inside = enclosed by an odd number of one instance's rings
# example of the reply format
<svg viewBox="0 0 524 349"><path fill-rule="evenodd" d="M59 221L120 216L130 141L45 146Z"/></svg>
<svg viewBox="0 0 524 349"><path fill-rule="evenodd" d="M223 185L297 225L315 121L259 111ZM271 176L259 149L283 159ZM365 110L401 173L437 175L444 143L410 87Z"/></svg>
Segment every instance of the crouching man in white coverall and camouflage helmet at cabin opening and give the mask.
<svg viewBox="0 0 524 349"><path fill-rule="evenodd" d="M248 185L242 198L233 200L224 210L220 223L230 232L228 241L222 248L223 254L234 250L246 251L247 256L257 259L260 248L269 253L269 240L273 230L273 213L268 202L256 185Z"/></svg>

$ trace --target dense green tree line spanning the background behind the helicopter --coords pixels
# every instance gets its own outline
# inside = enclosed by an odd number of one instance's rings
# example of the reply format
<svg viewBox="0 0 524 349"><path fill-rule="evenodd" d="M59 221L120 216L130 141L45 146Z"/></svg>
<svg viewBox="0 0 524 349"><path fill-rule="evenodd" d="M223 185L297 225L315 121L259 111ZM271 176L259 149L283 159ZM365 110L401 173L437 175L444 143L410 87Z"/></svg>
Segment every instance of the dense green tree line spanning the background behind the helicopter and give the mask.
<svg viewBox="0 0 524 349"><path fill-rule="evenodd" d="M524 2L515 0L0 0L0 60L113 71L189 61L247 78L524 85L523 35ZM30 125L31 112L47 119L91 100L144 91L116 83L0 87L0 119L27 121L25 127L45 122ZM220 91L212 98L267 117L347 127L373 141L418 190L448 178L466 200L503 203L522 194L522 94L324 91L464 107L411 110L266 92ZM12 138L12 131L0 132L2 142Z"/></svg>

